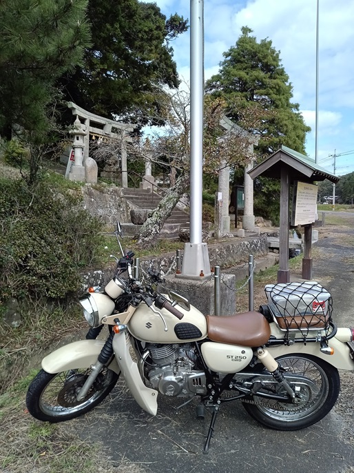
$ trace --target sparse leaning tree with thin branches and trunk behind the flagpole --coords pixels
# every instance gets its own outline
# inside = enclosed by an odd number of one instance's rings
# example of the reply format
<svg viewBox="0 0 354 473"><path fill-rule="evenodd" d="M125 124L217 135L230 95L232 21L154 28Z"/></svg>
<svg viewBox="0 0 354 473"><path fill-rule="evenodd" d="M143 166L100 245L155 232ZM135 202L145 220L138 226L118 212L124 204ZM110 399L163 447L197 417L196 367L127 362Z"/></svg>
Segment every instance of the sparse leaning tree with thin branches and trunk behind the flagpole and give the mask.
<svg viewBox="0 0 354 473"><path fill-rule="evenodd" d="M169 189L140 229L138 244L142 247L156 242L176 203L189 189L190 94L180 91L174 94L160 92L158 102L160 114L154 117L150 115L149 119L151 123L163 125L152 128L148 140L136 138L127 143L129 159L149 159L157 164L169 165L171 169ZM250 135L245 129L257 128L261 113L254 104L250 108L240 108L238 114L242 117L242 128L235 125L225 130L220 123L228 110L235 110L236 107L236 103L205 97L203 171L206 173L217 176L222 167L243 166L250 159ZM146 123L146 117L143 117L143 122Z"/></svg>

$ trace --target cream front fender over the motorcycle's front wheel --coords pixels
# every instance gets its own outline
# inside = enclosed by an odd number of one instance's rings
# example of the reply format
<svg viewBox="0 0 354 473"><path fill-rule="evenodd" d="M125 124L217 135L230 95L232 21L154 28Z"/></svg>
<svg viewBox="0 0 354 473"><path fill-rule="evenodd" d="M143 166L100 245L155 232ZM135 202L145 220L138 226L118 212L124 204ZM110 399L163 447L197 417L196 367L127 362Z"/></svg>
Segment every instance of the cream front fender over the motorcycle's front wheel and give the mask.
<svg viewBox="0 0 354 473"><path fill-rule="evenodd" d="M90 368L96 363L104 344L105 342L101 340L74 341L45 356L42 368L52 374L76 368ZM117 374L121 372L115 358L108 368Z"/></svg>

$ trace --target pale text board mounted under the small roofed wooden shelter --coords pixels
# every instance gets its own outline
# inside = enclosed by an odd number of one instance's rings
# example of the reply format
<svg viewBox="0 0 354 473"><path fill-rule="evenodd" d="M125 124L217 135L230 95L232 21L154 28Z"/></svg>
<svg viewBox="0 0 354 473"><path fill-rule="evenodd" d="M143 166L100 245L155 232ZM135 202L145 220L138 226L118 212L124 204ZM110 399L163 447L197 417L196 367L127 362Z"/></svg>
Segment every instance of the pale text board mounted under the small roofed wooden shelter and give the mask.
<svg viewBox="0 0 354 473"><path fill-rule="evenodd" d="M291 225L309 225L316 219L317 185L295 181Z"/></svg>

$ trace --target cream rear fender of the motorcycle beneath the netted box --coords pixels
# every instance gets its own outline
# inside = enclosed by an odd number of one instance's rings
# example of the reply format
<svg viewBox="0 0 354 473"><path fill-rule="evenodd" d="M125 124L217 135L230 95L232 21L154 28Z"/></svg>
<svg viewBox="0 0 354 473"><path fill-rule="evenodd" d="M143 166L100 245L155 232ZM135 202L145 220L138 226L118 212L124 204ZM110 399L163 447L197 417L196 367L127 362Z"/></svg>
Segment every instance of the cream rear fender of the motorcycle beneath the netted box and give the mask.
<svg viewBox="0 0 354 473"><path fill-rule="evenodd" d="M351 359L348 345L333 337L333 339L329 340L329 346L334 350L333 355L322 353L320 351L320 343L306 343L306 345L304 345L304 343L294 343L289 347L286 345L278 345L275 347L267 347L267 350L274 358L292 353L311 354L326 361L338 370L353 371L354 361Z"/></svg>

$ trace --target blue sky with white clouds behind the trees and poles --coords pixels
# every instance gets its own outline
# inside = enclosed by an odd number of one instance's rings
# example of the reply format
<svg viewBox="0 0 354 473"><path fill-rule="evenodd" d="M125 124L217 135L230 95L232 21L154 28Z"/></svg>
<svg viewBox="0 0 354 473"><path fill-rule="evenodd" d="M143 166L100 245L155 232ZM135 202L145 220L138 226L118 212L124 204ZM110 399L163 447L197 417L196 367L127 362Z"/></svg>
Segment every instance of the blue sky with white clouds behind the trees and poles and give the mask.
<svg viewBox="0 0 354 473"><path fill-rule="evenodd" d="M145 0L149 1L149 0ZM169 17L190 19L190 1L155 0ZM354 0L319 0L318 163L340 176L354 171ZM315 158L317 0L204 0L205 79L219 70L242 26L271 39L293 85L293 102L312 131L306 153ZM171 42L180 77L189 82L189 32ZM335 155L335 158L334 158Z"/></svg>

